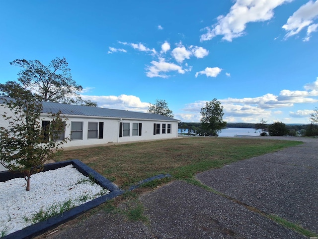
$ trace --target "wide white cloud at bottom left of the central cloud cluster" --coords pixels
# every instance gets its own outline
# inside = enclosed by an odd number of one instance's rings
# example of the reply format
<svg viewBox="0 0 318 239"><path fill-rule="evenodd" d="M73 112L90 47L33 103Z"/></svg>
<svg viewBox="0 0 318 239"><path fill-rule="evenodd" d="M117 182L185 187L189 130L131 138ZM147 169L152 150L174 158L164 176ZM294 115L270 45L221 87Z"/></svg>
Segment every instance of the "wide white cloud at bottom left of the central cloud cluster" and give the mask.
<svg viewBox="0 0 318 239"><path fill-rule="evenodd" d="M146 75L150 78L152 77L161 77L161 78L168 78L166 74L162 74L162 72L170 72L170 71L176 71L179 74L184 74L187 71L191 71L190 69L184 70L181 66L176 65L174 63L166 62L164 58L159 58L158 61L152 61L152 66L147 67L147 73Z"/></svg>

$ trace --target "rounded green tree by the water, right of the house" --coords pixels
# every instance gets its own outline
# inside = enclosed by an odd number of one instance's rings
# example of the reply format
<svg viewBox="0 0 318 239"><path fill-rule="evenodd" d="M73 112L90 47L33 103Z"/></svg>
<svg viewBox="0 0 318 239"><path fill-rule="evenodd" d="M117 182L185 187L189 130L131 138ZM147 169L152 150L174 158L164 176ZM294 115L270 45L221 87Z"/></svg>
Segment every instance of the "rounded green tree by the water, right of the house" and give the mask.
<svg viewBox="0 0 318 239"><path fill-rule="evenodd" d="M223 106L217 99L207 102L205 107L201 109L202 118L200 122L202 131L200 134L204 136L219 136L219 131L227 124L226 121L223 121L223 116Z"/></svg>

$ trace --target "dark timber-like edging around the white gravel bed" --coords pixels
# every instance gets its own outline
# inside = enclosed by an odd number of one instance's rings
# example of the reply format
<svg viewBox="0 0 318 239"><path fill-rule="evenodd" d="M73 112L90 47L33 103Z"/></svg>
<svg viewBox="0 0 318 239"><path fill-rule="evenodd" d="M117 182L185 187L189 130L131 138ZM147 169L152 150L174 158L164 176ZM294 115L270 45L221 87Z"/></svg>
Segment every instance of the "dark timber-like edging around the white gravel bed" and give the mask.
<svg viewBox="0 0 318 239"><path fill-rule="evenodd" d="M56 217L49 218L48 220L44 222L39 222L36 224L33 224L29 227L26 227L20 231L11 233L1 239L30 239L32 237L38 236L43 234L44 232L57 227L58 225L65 223L80 214L97 207L98 205L111 200L121 194L124 193L123 190L119 189L115 184L113 184L110 180L107 178L101 176L99 173L97 173L95 170L91 169L78 159L64 161L64 162L57 162L57 163L50 163L44 165L44 172L48 170L55 170L58 168L65 167L67 165L72 164L76 169L79 170L80 173L86 175L86 176L92 176L95 179L95 182L98 183L102 188L108 189L110 191L109 194L103 195L99 198L96 198L92 201L89 201L87 203L84 203L82 205L79 205L78 207L75 207L67 212L64 212L62 215L58 215ZM20 173L12 173L8 171L0 172L0 182L5 182L7 180L18 178L18 177L24 177L23 174ZM6 179L6 180L3 180Z"/></svg>

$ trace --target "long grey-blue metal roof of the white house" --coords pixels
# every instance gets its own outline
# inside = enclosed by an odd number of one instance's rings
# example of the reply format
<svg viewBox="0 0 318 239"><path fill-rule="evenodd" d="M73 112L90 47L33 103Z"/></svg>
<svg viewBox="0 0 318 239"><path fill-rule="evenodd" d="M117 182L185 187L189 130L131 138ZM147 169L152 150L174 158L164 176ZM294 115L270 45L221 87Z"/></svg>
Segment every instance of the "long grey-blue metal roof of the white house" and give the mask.
<svg viewBox="0 0 318 239"><path fill-rule="evenodd" d="M1 99L2 98L2 99ZM0 103L4 103L1 97ZM7 100L9 98L6 98ZM166 116L161 116L157 114L132 112L124 110L115 110L108 108L98 108L90 106L77 106L69 104L60 104L55 102L42 102L42 113L52 113L56 114L59 111L63 115L74 115L74 116L91 116L91 117L105 117L105 118L118 118L118 119L149 119L149 120L164 120L164 121L180 121L178 119L173 119Z"/></svg>

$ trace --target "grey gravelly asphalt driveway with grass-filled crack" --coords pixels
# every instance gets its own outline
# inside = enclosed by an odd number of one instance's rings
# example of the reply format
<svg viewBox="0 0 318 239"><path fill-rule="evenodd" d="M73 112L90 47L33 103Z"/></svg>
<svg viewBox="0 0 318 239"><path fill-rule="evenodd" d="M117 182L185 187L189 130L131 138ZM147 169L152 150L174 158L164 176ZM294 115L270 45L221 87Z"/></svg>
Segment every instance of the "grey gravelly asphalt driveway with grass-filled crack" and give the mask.
<svg viewBox="0 0 318 239"><path fill-rule="evenodd" d="M149 223L100 212L45 238L306 238L259 211L318 234L318 139L301 139L302 145L196 176L226 196L174 181L140 198Z"/></svg>

